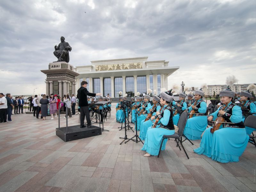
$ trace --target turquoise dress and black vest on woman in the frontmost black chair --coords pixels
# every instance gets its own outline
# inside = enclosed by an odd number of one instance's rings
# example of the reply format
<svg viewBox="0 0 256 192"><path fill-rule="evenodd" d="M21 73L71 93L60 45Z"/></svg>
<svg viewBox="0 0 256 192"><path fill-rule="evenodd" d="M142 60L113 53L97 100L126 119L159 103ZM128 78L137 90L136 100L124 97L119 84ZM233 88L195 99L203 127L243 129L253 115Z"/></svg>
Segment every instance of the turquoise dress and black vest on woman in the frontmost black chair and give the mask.
<svg viewBox="0 0 256 192"><path fill-rule="evenodd" d="M145 143L141 150L147 151L150 155L158 155L163 135L172 135L175 133L172 122L172 108L169 105L164 105L158 115L160 120L156 128L148 128ZM170 130L171 129L171 130ZM165 149L167 139L164 140L161 150Z"/></svg>

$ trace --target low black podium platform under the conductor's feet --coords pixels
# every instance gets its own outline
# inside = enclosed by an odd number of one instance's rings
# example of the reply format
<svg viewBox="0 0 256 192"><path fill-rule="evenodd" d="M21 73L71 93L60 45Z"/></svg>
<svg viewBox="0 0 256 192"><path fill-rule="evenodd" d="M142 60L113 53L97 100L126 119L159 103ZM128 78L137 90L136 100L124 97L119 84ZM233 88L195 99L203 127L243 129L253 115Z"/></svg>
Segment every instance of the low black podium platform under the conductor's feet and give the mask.
<svg viewBox="0 0 256 192"><path fill-rule="evenodd" d="M67 132L67 127L60 127L56 128L56 135L63 141L67 142L101 135L101 128L96 126L90 128L88 128L87 126L84 128L80 128L80 125L74 125L69 126Z"/></svg>

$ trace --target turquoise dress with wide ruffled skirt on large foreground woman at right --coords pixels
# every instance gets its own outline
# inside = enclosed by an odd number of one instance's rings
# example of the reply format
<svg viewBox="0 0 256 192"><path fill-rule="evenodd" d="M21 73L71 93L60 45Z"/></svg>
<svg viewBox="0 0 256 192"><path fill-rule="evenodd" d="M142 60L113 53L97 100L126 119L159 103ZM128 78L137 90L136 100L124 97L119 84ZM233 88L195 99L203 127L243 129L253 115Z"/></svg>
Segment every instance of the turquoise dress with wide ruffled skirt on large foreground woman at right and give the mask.
<svg viewBox="0 0 256 192"><path fill-rule="evenodd" d="M219 110L223 107L221 106L210 116L213 116L215 120ZM224 119L235 124L223 123L220 129L214 133L211 133L211 128L207 128L200 142L200 147L194 149L194 152L206 155L220 163L238 162L239 156L243 154L249 140L245 128L242 128L244 127L242 110L241 107L230 102L224 111L226 112L223 116Z"/></svg>

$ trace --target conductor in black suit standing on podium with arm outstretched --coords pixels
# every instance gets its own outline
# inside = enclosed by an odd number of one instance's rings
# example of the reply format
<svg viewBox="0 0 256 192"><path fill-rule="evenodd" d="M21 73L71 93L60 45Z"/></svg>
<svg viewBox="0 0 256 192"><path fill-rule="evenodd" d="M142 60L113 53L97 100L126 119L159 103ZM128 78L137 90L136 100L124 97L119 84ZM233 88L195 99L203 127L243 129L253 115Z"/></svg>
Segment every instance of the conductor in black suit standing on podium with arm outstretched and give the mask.
<svg viewBox="0 0 256 192"><path fill-rule="evenodd" d="M90 119L89 106L87 101L87 95L91 97L95 97L96 95L100 96L101 93L90 93L87 91L87 82L82 81L81 87L77 90L77 98L79 99L78 105L80 107L80 128L86 127L84 126L84 116L86 116L87 127L93 127Z"/></svg>

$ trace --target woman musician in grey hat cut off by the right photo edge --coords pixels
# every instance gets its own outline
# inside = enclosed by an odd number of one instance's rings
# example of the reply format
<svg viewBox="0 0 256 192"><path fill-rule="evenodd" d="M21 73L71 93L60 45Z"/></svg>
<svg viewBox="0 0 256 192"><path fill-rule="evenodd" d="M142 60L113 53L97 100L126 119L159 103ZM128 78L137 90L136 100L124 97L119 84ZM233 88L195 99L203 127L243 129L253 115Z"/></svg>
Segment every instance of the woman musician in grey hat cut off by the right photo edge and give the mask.
<svg viewBox="0 0 256 192"><path fill-rule="evenodd" d="M251 87L252 88L251 88ZM255 86L255 85L254 85ZM249 85L248 88L250 89L254 89L253 84ZM256 88L256 86L255 86ZM250 93L250 89L248 89L247 91L241 92L240 93L240 102L242 103L242 105L247 109L247 111L243 111L243 112L247 112L247 113L256 113L256 105L254 102L252 102L250 100L250 98L252 97L252 94ZM243 109L242 109L243 110ZM245 116L243 115L242 121L244 122ZM247 132L247 134L251 135L252 132L255 130L251 127L245 127L245 130Z"/></svg>

